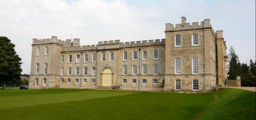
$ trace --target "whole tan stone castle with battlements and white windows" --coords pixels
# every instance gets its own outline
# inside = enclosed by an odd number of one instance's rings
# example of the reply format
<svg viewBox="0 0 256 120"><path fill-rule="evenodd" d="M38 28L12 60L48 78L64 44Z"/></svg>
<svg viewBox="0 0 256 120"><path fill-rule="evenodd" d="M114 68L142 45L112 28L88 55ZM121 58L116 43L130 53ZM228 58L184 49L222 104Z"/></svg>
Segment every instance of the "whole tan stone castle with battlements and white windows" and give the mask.
<svg viewBox="0 0 256 120"><path fill-rule="evenodd" d="M164 92L207 92L227 77L226 41L210 19L166 24L165 39L110 40L80 46L71 41L33 39L30 89L105 88Z"/></svg>

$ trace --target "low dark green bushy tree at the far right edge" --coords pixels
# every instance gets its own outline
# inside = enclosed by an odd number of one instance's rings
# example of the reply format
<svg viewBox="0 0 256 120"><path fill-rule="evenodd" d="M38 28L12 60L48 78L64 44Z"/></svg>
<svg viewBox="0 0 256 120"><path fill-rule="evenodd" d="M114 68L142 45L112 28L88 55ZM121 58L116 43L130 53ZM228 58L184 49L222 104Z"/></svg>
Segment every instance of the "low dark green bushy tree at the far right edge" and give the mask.
<svg viewBox="0 0 256 120"><path fill-rule="evenodd" d="M255 87L256 86L256 77L248 70L247 74L241 78L241 86L243 87Z"/></svg>

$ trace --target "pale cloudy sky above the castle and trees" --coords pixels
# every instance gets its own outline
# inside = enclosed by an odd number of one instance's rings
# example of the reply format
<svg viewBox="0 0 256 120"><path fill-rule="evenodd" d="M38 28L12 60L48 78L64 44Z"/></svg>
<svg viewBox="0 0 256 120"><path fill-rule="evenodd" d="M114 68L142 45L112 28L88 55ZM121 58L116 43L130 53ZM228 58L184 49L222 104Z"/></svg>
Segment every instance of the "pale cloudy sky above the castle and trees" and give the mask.
<svg viewBox="0 0 256 120"><path fill-rule="evenodd" d="M30 74L32 38L80 38L130 42L165 38L165 24L210 19L223 30L227 54L233 46L240 62L255 60L255 0L0 0L0 36L16 44L22 74ZM72 34L72 37L71 37Z"/></svg>

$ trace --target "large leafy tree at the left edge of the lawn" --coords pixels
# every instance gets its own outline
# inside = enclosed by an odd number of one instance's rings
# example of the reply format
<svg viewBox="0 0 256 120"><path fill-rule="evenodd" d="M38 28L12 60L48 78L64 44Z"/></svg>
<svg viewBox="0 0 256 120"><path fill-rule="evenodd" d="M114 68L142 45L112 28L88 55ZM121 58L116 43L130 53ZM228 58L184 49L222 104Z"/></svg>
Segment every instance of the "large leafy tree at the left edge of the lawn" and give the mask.
<svg viewBox="0 0 256 120"><path fill-rule="evenodd" d="M21 58L14 50L15 44L0 36L0 83L19 83L22 69Z"/></svg>

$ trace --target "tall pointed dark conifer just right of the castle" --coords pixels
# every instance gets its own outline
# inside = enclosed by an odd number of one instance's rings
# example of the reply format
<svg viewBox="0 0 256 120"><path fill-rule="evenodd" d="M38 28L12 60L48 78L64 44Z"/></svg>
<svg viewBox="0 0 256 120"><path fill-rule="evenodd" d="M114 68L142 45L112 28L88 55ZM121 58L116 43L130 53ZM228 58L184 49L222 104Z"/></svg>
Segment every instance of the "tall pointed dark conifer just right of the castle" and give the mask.
<svg viewBox="0 0 256 120"><path fill-rule="evenodd" d="M235 50L230 46L228 54L228 79L236 80L236 76L240 75L240 62Z"/></svg>

